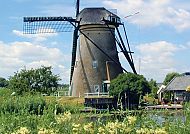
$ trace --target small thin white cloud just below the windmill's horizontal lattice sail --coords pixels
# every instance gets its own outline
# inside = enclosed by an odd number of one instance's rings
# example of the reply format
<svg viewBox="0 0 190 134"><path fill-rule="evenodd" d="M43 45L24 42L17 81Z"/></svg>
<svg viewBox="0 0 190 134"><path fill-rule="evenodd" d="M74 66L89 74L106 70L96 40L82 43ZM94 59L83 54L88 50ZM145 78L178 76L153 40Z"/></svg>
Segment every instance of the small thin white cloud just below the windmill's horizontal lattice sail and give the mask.
<svg viewBox="0 0 190 134"><path fill-rule="evenodd" d="M40 30L40 29L39 29ZM53 29L47 29L47 31L52 31ZM19 37L24 37L24 38L29 38L29 39L33 39L34 42L42 42L47 40L48 37L53 37L53 36L57 36L57 33L43 33L43 34L23 34L22 31L18 31L18 30L13 30L12 31L13 34L19 36Z"/></svg>

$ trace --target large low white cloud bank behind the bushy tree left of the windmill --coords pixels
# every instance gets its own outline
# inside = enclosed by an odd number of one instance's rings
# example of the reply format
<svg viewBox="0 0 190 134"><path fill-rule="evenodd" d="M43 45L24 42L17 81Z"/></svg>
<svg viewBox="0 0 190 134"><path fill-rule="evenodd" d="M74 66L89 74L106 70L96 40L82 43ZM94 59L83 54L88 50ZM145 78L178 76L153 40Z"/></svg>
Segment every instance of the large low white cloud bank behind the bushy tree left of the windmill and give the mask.
<svg viewBox="0 0 190 134"><path fill-rule="evenodd" d="M70 55L63 54L57 48L48 48L29 42L0 42L0 76L8 78L14 72L26 67L37 68L41 65L52 66L56 74L60 74L62 81L69 82Z"/></svg>

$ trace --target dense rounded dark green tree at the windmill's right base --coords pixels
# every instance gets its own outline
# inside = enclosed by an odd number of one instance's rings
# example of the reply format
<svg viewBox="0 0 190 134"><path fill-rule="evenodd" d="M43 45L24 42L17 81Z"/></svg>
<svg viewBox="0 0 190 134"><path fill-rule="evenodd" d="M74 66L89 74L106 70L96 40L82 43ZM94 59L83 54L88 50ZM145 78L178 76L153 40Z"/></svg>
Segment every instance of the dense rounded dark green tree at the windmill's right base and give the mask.
<svg viewBox="0 0 190 134"><path fill-rule="evenodd" d="M113 79L110 84L109 94L121 99L124 108L136 108L139 97L150 93L148 81L142 76L133 73L123 73Z"/></svg>

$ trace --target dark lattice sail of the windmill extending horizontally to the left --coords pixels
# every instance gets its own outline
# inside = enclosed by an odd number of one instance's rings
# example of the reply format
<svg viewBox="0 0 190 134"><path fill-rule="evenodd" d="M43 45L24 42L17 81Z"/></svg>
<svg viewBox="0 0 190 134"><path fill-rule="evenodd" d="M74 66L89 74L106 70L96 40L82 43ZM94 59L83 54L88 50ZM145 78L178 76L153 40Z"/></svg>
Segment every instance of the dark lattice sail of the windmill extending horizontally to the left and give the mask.
<svg viewBox="0 0 190 134"><path fill-rule="evenodd" d="M71 22L75 22L72 17L24 17L23 33L72 32Z"/></svg>

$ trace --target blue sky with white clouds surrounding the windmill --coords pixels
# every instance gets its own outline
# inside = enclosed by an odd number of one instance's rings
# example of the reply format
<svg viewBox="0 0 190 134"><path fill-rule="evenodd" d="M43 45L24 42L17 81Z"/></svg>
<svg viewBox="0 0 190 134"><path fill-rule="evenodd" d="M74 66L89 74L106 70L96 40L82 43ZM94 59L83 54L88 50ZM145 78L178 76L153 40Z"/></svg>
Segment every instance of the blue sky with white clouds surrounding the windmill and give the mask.
<svg viewBox="0 0 190 134"><path fill-rule="evenodd" d="M134 51L137 72L147 80L163 82L167 73L190 72L190 1L81 0L80 10L85 7L117 10ZM52 66L62 83L69 83L72 32L23 34L26 16L74 17L75 0L1 1L0 77L44 65ZM121 53L119 57L122 66L131 71Z"/></svg>

